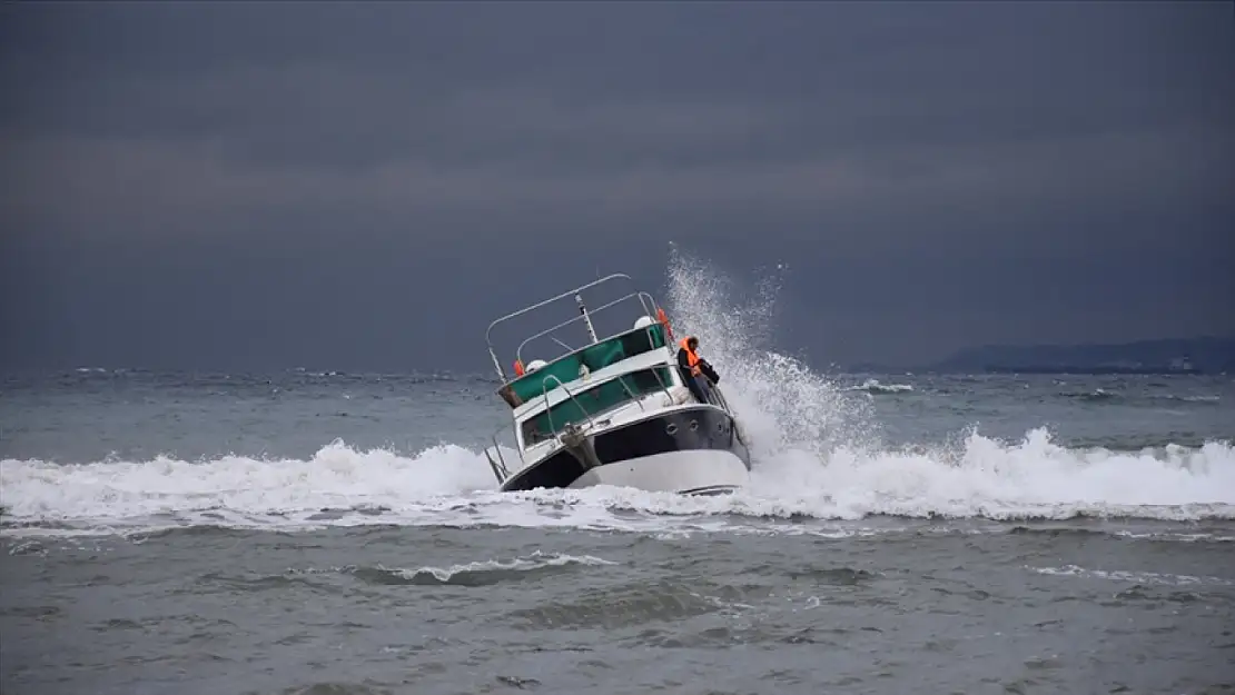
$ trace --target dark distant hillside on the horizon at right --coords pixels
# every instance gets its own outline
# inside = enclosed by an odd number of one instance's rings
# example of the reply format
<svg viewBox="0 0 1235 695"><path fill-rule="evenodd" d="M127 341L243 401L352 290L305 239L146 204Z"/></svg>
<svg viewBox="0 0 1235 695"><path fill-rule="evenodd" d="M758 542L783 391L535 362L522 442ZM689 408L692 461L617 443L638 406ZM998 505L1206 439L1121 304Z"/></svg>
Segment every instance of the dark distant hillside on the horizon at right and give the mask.
<svg viewBox="0 0 1235 695"><path fill-rule="evenodd" d="M1235 339L1182 338L1074 346L983 346L930 365L935 372L1199 373L1235 372Z"/></svg>

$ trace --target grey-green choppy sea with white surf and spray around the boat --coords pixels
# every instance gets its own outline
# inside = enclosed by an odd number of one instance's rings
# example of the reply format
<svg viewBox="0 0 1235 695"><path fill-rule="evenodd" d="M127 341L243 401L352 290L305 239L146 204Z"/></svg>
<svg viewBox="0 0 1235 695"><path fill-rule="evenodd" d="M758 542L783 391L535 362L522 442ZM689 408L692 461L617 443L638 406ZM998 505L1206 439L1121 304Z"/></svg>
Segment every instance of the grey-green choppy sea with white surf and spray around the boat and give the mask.
<svg viewBox="0 0 1235 695"><path fill-rule="evenodd" d="M483 341L6 377L0 693L1235 693L1235 377L846 374L668 275L732 495L498 493Z"/></svg>

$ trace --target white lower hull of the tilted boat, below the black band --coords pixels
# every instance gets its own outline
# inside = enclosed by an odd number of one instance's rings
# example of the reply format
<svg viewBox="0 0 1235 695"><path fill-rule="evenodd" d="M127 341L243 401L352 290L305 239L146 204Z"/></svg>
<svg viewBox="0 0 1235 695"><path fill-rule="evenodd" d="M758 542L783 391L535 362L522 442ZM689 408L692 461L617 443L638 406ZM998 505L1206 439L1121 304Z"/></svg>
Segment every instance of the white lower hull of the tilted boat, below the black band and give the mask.
<svg viewBox="0 0 1235 695"><path fill-rule="evenodd" d="M571 488L619 485L650 493L732 493L750 481L741 458L724 449L664 452L598 465Z"/></svg>

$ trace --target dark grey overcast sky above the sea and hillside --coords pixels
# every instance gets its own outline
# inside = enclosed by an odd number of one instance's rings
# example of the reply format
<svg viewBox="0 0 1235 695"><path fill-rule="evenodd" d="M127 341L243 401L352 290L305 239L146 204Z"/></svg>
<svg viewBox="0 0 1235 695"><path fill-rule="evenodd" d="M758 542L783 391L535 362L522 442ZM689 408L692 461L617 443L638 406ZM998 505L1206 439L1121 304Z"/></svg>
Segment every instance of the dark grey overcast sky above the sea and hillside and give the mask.
<svg viewBox="0 0 1235 695"><path fill-rule="evenodd" d="M0 7L0 358L485 370L668 241L818 363L1235 333L1230 2Z"/></svg>

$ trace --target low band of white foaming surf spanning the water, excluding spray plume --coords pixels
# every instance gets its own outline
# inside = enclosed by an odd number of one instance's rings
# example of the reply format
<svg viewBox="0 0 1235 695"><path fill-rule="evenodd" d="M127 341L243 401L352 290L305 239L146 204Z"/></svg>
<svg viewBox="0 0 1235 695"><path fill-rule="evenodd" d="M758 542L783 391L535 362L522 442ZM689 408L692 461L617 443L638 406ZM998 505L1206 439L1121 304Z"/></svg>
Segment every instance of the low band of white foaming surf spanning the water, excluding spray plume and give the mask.
<svg viewBox="0 0 1235 695"><path fill-rule="evenodd" d="M501 494L494 485L483 456L454 446L412 457L335 442L306 460L0 463L6 535L374 523L720 531L751 517L1230 520L1235 451L1225 442L1072 449L1044 430L1011 443L972 432L937 449L837 447L823 460L785 451L756 463L747 490L722 497L620 488Z"/></svg>

